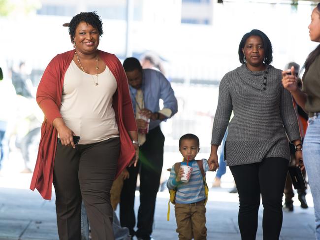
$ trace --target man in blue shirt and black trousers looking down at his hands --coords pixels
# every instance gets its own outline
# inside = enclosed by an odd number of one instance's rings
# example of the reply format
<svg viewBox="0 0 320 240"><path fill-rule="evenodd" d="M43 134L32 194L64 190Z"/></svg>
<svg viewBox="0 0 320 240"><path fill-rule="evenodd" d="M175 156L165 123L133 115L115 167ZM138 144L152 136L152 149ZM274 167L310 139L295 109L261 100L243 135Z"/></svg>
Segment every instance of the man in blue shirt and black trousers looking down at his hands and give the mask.
<svg viewBox="0 0 320 240"><path fill-rule="evenodd" d="M128 168L130 177L124 181L120 200L120 222L123 227L128 227L131 236L150 240L163 165L164 136L160 123L172 117L178 111L178 105L170 83L160 71L142 69L136 58L127 58L123 66L128 77L141 146L138 165ZM163 100L162 109L159 106L160 99ZM140 206L138 230L134 231L134 198L138 173Z"/></svg>

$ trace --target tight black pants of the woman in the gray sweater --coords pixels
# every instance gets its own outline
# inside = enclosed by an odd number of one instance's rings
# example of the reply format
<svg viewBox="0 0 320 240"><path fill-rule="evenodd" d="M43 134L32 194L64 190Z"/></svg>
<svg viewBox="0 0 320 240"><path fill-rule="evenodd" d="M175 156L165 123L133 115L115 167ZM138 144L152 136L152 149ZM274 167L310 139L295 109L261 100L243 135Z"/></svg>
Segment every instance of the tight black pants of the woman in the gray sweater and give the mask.
<svg viewBox="0 0 320 240"><path fill-rule="evenodd" d="M230 166L239 193L238 224L242 240L256 239L260 194L263 240L279 239L288 164L284 158L265 158L261 163Z"/></svg>

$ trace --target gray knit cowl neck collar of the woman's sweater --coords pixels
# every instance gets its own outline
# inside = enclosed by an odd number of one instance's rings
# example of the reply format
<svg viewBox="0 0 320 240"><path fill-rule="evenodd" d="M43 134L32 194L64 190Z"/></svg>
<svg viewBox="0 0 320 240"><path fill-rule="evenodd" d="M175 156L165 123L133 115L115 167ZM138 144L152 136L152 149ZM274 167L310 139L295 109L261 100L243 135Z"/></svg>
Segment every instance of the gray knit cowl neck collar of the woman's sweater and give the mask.
<svg viewBox="0 0 320 240"><path fill-rule="evenodd" d="M271 65L267 65L265 70L251 71L247 68L246 64L242 64L239 68L236 69L236 72L240 79L248 85L258 90L265 90L266 85L263 84L263 80L265 80L265 82L270 81L269 71L272 68L273 67Z"/></svg>

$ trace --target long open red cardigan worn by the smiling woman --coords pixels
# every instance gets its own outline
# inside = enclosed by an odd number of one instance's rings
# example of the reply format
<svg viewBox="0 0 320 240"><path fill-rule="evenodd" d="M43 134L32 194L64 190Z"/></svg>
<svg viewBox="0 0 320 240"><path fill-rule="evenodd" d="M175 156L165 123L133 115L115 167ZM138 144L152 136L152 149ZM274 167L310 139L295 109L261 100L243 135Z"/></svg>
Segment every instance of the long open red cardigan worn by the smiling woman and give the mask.
<svg viewBox="0 0 320 240"><path fill-rule="evenodd" d="M113 108L120 135L120 155L116 178L123 171L135 154L128 131L137 131L128 80L119 59L110 53L98 50L98 55L105 62L117 80L117 91L113 95ZM59 111L64 85L64 74L74 56L74 50L58 54L45 69L39 83L36 101L42 109L45 119L41 126L41 139L30 189L35 188L44 199L51 199L54 159L57 149L58 132L52 121L62 117Z"/></svg>

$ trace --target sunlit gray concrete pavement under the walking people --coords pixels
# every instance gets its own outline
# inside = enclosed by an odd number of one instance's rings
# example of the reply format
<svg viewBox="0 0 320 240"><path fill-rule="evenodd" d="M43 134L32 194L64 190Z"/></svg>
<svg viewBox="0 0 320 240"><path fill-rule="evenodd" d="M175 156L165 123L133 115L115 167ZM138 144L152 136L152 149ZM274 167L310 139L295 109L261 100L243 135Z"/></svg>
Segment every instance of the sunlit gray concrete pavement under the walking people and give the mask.
<svg viewBox="0 0 320 240"><path fill-rule="evenodd" d="M58 240L54 193L52 201L43 200L39 193L14 187L14 182L27 188L31 174L0 177L0 240ZM6 182L7 184L3 184ZM207 203L208 240L240 240L237 222L238 197L226 188L210 189ZM138 192L136 210L138 207ZM155 240L178 239L174 207L171 205L170 221L166 220L169 194L159 192L155 213L153 237ZM311 203L310 193L307 201ZM298 203L296 200L295 203ZM312 203L310 204L311 206ZM262 240L262 209L259 210L257 240ZM295 206L291 213L284 212L281 240L314 240L314 209Z"/></svg>

